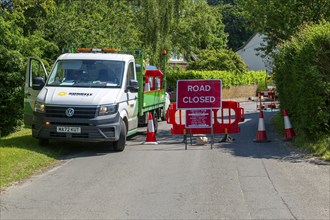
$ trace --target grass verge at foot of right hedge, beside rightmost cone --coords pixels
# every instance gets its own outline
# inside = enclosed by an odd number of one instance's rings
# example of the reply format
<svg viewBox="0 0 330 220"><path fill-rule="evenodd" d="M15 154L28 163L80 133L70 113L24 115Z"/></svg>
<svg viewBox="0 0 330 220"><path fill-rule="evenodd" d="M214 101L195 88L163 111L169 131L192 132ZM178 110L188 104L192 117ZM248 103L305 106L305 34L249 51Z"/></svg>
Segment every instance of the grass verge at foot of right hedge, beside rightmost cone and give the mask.
<svg viewBox="0 0 330 220"><path fill-rule="evenodd" d="M274 117L273 123L276 126L276 131L284 137L284 120L280 113ZM330 136L319 137L316 141L311 141L307 137L297 134L292 140L292 144L330 161Z"/></svg>

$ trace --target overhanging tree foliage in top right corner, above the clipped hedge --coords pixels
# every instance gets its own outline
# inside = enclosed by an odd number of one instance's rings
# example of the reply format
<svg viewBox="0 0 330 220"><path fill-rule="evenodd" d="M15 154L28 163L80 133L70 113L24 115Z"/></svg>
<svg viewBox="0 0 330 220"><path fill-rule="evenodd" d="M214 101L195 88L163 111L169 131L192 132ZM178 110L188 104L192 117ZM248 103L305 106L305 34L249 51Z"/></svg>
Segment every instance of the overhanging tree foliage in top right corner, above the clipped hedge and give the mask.
<svg viewBox="0 0 330 220"><path fill-rule="evenodd" d="M330 20L329 0L238 0L254 32L268 36L268 53L289 40L305 22ZM299 13L298 13L299 12Z"/></svg>

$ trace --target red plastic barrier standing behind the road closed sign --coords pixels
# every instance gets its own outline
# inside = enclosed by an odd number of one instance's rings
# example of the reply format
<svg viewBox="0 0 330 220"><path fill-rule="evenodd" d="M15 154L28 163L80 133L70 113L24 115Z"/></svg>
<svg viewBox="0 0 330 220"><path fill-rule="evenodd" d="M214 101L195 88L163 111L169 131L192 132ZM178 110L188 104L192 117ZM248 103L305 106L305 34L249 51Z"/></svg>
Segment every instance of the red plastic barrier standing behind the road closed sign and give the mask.
<svg viewBox="0 0 330 220"><path fill-rule="evenodd" d="M224 112L228 111L228 115L224 116ZM231 110L235 112L231 114ZM178 111L178 116L176 115ZM190 134L211 134L212 128L189 128L185 127L183 122L183 111L176 109L176 103L172 103L166 112L167 124L172 124L171 134L186 134L189 130ZM244 109L240 107L239 102L223 101L221 109L213 109L213 134L239 133L240 127L238 123L244 121ZM218 116L220 114L220 116ZM235 119L232 119L232 116Z"/></svg>

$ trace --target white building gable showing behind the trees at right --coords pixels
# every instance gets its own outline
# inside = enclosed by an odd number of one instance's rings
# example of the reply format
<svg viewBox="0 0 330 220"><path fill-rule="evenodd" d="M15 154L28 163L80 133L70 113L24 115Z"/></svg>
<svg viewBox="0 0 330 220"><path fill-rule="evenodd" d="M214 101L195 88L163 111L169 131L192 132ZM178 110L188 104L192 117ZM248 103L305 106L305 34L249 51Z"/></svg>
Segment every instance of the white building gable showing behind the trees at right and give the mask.
<svg viewBox="0 0 330 220"><path fill-rule="evenodd" d="M262 57L264 54L258 48L265 47L267 42L266 36L262 34L254 34L236 53L242 57L249 70L267 70L268 73L272 72L270 66L270 58Z"/></svg>

